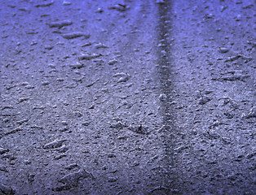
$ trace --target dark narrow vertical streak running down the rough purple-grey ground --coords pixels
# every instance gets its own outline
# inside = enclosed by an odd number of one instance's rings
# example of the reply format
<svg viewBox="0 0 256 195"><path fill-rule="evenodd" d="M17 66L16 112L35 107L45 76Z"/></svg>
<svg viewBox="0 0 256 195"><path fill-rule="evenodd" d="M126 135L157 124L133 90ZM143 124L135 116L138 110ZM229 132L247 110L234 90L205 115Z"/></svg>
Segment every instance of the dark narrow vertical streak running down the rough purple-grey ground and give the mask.
<svg viewBox="0 0 256 195"><path fill-rule="evenodd" d="M174 78L171 74L174 63L171 54L171 1L158 5L158 24L157 24L157 75L160 81L161 93L166 95L161 101L162 128L161 139L165 147L165 161L167 174L163 180L167 183L169 189L175 189L175 174L172 173L174 167L174 108L171 105L172 93L174 91ZM164 183L165 183L164 182Z"/></svg>

